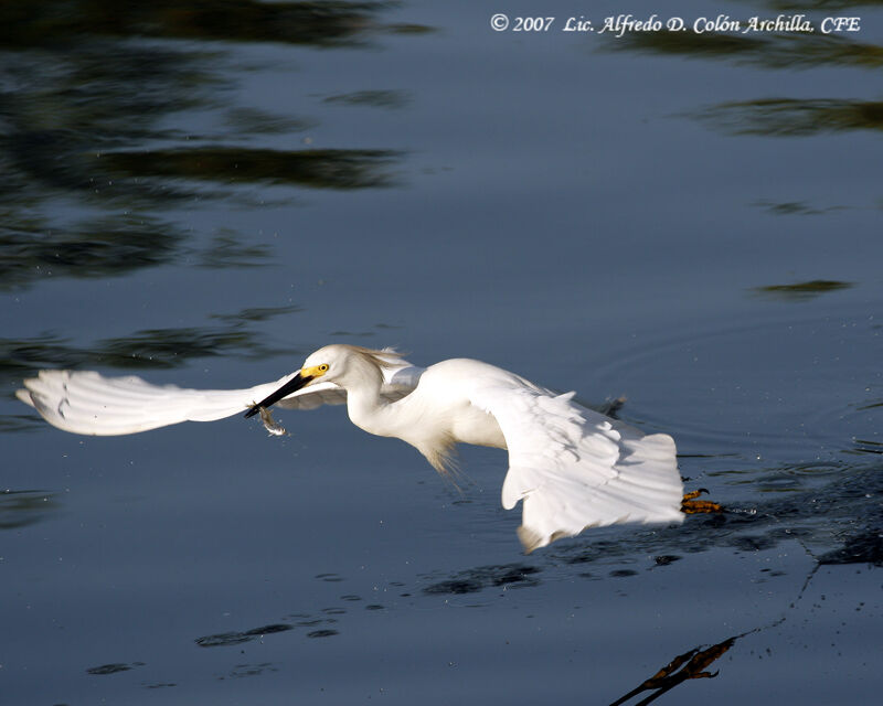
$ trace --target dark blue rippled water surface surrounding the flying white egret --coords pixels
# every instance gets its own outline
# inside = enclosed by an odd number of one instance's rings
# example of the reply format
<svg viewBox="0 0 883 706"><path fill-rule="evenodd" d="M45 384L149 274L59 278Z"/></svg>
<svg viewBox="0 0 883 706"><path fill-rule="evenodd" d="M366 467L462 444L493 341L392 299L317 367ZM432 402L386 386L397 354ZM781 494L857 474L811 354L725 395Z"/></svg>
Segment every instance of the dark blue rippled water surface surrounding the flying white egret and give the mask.
<svg viewBox="0 0 883 706"><path fill-rule="evenodd" d="M4 3L0 700L877 702L883 9L808 7ZM624 12L689 29L561 31ZM692 31L779 13L815 32ZM524 556L498 451L457 492L337 407L97 439L13 397L328 342L625 395L728 511Z"/></svg>

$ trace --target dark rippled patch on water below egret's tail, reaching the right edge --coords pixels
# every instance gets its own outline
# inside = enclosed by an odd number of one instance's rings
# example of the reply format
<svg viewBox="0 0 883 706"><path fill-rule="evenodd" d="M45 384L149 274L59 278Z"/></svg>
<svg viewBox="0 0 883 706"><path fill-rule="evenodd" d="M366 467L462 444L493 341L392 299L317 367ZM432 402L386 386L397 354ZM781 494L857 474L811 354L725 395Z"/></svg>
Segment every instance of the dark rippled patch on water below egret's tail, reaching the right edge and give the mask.
<svg viewBox="0 0 883 706"><path fill-rule="evenodd" d="M788 486L754 495L749 503L724 509L721 514L690 515L674 527L623 533L619 539L593 539L591 533L552 546L553 564L608 567L645 557L642 571L660 570L685 554L715 547L760 552L783 542L798 541L817 564L872 563L883 548L883 468L880 466L786 467L774 475ZM755 477L749 491L754 494ZM759 480L763 485L763 478ZM542 567L534 564L480 566L458 571L445 580L433 578L425 595L474 593L487 588L533 588ZM617 569L617 576L639 571ZM591 574L584 575L593 578ZM428 577L427 577L428 578Z"/></svg>

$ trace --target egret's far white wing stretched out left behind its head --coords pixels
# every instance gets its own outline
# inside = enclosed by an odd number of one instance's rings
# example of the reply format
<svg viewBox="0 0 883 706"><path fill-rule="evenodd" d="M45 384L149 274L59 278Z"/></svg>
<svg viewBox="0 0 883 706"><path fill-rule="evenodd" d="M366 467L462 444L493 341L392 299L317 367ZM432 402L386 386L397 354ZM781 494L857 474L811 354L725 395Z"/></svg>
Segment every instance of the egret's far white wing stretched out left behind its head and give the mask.
<svg viewBox="0 0 883 706"><path fill-rule="evenodd" d="M403 364L384 371L382 393L390 399L408 394L422 370ZM15 395L51 425L74 434L118 436L181 421L213 421L248 409L281 387L297 371L246 389L185 389L152 385L140 377L105 377L92 371L41 371ZM334 383L316 383L280 399L278 406L312 409L347 402Z"/></svg>

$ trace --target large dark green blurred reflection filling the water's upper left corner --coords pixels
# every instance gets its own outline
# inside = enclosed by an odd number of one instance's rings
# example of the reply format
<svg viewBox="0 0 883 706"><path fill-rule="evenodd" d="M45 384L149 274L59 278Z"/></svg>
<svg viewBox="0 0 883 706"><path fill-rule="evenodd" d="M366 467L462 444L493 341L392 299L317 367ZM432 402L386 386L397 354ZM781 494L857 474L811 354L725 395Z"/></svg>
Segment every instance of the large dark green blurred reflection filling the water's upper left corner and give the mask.
<svg viewBox="0 0 883 706"><path fill-rule="evenodd" d="M0 289L47 276L127 274L184 258L211 268L264 265L269 246L249 243L246 234L224 229L206 235L208 245L194 246L190 243L200 234L175 229L155 214L220 197L247 204L247 191L237 186L258 182L344 190L390 185L384 169L400 157L391 150L254 149L262 135L302 131L316 121L231 106L225 92L240 69L226 64L231 47L222 42L365 45L373 33L400 31L381 23L391 7L255 0L2 3ZM132 41L139 38L151 41ZM174 127L175 114L196 109L216 114L209 121L214 127L203 133ZM245 140L249 147L241 148Z"/></svg>

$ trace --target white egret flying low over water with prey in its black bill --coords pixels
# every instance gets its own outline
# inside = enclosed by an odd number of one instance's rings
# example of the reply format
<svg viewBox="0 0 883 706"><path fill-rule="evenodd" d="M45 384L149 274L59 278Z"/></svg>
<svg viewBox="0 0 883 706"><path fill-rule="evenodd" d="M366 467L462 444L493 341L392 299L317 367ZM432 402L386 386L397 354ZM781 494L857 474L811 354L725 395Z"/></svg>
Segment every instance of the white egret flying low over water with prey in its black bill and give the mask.
<svg viewBox="0 0 883 706"><path fill-rule="evenodd" d="M270 405L310 409L347 404L369 434L415 447L445 474L456 443L509 450L502 505L522 502L526 552L587 527L681 522L683 488L674 441L645 436L573 400L480 361L419 368L391 349L333 344L275 383L247 389L157 386L139 377L41 371L17 396L46 421L75 434L114 436L180 421L210 421Z"/></svg>

